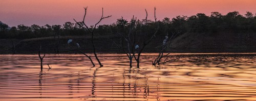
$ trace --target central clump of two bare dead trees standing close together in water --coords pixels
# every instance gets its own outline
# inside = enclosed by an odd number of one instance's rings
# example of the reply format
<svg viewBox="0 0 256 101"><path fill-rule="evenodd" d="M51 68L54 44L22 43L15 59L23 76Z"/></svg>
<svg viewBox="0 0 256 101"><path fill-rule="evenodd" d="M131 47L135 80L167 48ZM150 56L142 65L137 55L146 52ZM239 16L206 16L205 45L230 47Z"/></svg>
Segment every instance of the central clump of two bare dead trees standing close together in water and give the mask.
<svg viewBox="0 0 256 101"><path fill-rule="evenodd" d="M157 23L157 18L156 18L156 8L155 8L155 22L152 22L152 23L156 25L155 26L156 29L153 33L146 32L146 30L147 30L146 28L148 26L147 25L148 20L147 20L147 11L145 10L145 12L146 12L146 18L141 22L141 24L140 24L140 21L139 20L137 21L136 18L134 20L134 16L133 16L133 18L131 20L131 23L130 23L129 32L126 33L126 34L117 32L117 34L122 37L121 45L118 45L113 41L113 43L119 49L122 49L122 51L129 58L130 68L132 68L133 58L135 58L135 60L137 62L137 68L139 68L140 56L141 56L142 51L153 40L153 38L156 37L156 34L158 32L158 29L159 29L159 24ZM121 19L121 25L124 27L123 21L124 20L122 18ZM144 24L143 24L143 22L144 22ZM138 28L141 27L140 25L142 25L145 28L144 32L141 33L143 36L140 36L137 32L137 27ZM140 39L142 39L142 40L140 40Z"/></svg>

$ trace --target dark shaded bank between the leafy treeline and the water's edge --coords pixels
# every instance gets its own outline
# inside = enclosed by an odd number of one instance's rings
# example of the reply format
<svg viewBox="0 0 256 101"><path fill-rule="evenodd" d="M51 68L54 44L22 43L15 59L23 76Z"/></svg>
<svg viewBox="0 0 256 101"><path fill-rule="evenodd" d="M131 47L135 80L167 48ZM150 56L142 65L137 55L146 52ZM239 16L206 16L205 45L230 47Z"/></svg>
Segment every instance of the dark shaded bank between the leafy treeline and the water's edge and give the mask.
<svg viewBox="0 0 256 101"><path fill-rule="evenodd" d="M214 35L213 35L214 34ZM162 45L164 36L156 37L144 49L146 53L157 53ZM71 44L67 44L73 39ZM100 53L122 53L123 51L113 43L120 43L120 36L96 36L96 51ZM80 48L77 48L79 43ZM256 52L256 37L254 33L184 33L170 41L166 52L173 53L248 53ZM93 47L90 36L46 37L34 39L2 39L0 40L0 54L35 54L41 45L44 53L76 53L74 49L92 53Z"/></svg>

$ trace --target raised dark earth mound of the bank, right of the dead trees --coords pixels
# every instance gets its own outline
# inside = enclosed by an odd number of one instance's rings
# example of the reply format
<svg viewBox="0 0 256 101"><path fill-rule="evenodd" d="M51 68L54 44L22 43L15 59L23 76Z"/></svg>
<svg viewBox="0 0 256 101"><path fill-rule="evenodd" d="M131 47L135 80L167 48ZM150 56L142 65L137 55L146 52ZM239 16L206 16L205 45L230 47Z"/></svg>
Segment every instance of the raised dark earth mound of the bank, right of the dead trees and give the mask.
<svg viewBox="0 0 256 101"><path fill-rule="evenodd" d="M175 52L256 52L255 33L184 33L171 43Z"/></svg>

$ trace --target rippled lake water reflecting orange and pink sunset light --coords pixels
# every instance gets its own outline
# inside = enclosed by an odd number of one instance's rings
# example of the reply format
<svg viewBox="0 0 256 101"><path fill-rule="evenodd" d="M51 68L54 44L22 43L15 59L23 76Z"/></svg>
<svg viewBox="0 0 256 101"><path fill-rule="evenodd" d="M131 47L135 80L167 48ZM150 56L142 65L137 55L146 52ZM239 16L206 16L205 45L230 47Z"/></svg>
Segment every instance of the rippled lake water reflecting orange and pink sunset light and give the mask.
<svg viewBox="0 0 256 101"><path fill-rule="evenodd" d="M154 55L130 69L122 54L99 54L102 68L47 54L42 71L37 54L0 55L0 100L256 100L256 53L176 53L152 66Z"/></svg>

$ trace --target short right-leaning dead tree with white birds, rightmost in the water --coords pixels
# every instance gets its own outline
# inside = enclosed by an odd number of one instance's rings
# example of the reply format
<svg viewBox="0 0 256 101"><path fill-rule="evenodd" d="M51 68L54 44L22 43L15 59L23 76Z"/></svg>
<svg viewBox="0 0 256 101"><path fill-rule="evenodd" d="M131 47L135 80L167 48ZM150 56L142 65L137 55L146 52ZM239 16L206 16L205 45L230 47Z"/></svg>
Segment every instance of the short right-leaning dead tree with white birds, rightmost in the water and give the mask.
<svg viewBox="0 0 256 101"><path fill-rule="evenodd" d="M172 39L174 39L179 33L180 33L180 31L178 31L178 33L173 32L173 35L170 38L168 38L168 33L166 33L165 39L163 40L163 43L162 43L162 48L161 48L160 52L158 53L157 58L154 61L152 60L152 65L156 66L156 64L158 64L158 65L165 64L166 62L169 61L167 59L168 59L168 57L169 57L168 55L170 53L167 53L166 55L163 55L164 51L169 46L168 44L170 44L170 41L172 41ZM164 61L161 62L161 59L163 59L164 57L165 57Z"/></svg>

